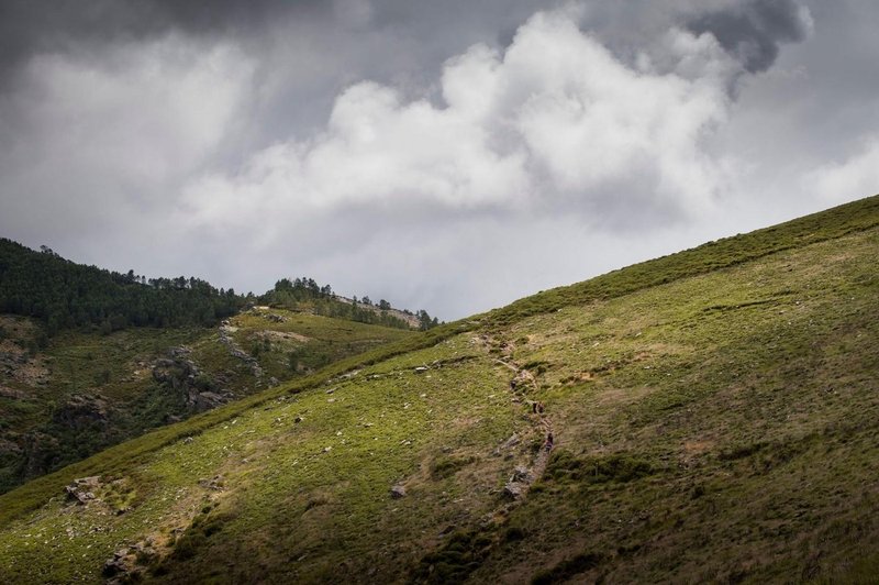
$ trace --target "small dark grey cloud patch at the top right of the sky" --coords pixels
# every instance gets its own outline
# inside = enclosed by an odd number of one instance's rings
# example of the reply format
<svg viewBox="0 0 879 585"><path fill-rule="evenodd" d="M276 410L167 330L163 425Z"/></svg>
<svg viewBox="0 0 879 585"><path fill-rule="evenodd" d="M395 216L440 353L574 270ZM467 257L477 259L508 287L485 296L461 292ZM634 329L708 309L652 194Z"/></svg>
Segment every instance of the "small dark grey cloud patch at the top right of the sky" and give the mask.
<svg viewBox="0 0 879 585"><path fill-rule="evenodd" d="M748 0L701 14L687 29L711 33L749 73L768 69L782 43L804 40L811 20L795 0Z"/></svg>

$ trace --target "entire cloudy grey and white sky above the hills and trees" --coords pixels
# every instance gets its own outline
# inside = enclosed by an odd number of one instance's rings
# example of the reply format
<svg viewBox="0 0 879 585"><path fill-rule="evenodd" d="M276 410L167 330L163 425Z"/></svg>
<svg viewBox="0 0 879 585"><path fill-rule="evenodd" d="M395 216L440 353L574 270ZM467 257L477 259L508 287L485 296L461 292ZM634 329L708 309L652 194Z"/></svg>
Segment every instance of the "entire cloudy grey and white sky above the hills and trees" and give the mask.
<svg viewBox="0 0 879 585"><path fill-rule="evenodd" d="M0 236L453 320L879 192L874 0L0 0Z"/></svg>

